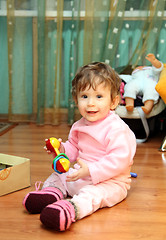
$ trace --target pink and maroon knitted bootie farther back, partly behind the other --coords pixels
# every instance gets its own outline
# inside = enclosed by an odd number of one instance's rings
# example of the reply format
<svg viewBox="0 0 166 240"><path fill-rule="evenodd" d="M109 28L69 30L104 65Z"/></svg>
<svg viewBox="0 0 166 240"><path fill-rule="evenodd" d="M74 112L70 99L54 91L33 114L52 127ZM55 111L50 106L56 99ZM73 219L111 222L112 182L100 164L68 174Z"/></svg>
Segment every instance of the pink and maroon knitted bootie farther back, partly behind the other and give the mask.
<svg viewBox="0 0 166 240"><path fill-rule="evenodd" d="M23 200L23 206L29 213L41 213L47 205L60 199L63 199L63 194L58 188L47 187L28 193Z"/></svg>

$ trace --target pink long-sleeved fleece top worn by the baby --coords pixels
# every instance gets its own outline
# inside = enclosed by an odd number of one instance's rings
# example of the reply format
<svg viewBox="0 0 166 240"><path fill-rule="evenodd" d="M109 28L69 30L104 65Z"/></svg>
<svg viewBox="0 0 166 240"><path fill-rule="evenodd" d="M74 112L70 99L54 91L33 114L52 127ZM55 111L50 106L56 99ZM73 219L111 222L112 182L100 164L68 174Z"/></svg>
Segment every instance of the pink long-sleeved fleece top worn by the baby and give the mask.
<svg viewBox="0 0 166 240"><path fill-rule="evenodd" d="M73 124L63 145L71 162L80 158L88 165L93 184L129 178L136 138L114 111L97 122L81 118Z"/></svg>

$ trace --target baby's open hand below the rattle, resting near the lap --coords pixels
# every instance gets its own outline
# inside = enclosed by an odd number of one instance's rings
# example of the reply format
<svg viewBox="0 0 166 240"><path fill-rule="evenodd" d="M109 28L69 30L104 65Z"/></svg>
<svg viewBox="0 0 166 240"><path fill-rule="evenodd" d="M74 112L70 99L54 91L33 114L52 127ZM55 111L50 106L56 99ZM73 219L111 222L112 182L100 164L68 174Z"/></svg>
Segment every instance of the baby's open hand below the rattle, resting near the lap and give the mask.
<svg viewBox="0 0 166 240"><path fill-rule="evenodd" d="M79 158L77 158L77 163L80 165L80 169L78 169L78 171L76 171L75 173L67 176L67 182L77 181L80 178L90 176L88 165L81 161Z"/></svg>

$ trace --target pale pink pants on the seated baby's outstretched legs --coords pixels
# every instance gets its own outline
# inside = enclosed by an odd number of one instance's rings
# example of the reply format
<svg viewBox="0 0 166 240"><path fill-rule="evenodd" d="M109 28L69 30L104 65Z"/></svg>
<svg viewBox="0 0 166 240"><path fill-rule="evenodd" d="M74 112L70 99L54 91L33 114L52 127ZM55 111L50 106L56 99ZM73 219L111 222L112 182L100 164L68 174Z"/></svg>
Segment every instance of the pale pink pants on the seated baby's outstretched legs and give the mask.
<svg viewBox="0 0 166 240"><path fill-rule="evenodd" d="M52 173L44 182L43 188L52 186L59 188L64 197L71 196L71 201L78 209L77 219L92 214L99 208L112 207L124 200L130 185L114 180L108 180L93 185L91 180L77 180L66 182L66 175L71 174L75 169L70 168L64 174Z"/></svg>

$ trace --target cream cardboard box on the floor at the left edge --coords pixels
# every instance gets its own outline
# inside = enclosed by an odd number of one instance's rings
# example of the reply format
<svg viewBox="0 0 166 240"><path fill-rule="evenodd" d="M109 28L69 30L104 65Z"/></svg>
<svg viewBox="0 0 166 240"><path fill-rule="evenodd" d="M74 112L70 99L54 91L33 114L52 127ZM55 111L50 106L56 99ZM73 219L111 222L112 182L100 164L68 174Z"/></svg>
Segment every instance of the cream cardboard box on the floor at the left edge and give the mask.
<svg viewBox="0 0 166 240"><path fill-rule="evenodd" d="M0 196L29 187L30 159L0 153Z"/></svg>

